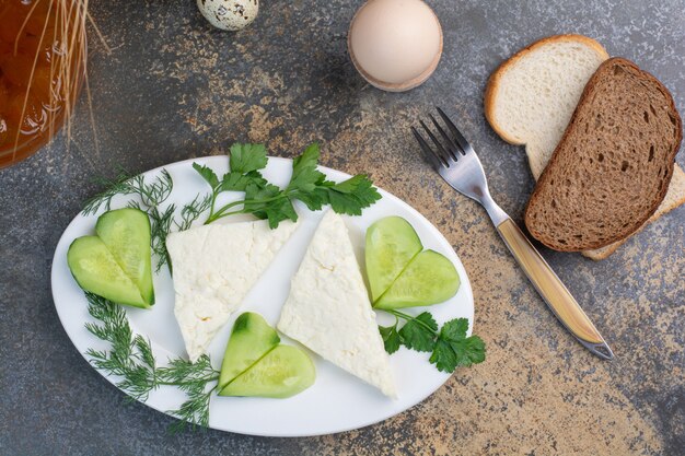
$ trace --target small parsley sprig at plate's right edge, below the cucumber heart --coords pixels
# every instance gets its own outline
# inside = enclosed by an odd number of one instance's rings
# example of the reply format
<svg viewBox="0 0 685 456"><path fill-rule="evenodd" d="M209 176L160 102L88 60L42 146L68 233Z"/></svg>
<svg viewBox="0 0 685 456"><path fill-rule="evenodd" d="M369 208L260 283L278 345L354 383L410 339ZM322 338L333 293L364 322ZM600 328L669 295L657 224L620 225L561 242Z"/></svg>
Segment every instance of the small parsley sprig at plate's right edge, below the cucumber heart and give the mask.
<svg viewBox="0 0 685 456"><path fill-rule="evenodd" d="M468 319L454 318L442 325L423 312L416 317L399 311L385 311L395 316L392 326L379 326L385 351L394 353L405 346L410 350L431 352L429 361L439 371L452 373L458 366L485 361L485 342L478 336L466 337ZM406 323L397 329L399 319Z"/></svg>

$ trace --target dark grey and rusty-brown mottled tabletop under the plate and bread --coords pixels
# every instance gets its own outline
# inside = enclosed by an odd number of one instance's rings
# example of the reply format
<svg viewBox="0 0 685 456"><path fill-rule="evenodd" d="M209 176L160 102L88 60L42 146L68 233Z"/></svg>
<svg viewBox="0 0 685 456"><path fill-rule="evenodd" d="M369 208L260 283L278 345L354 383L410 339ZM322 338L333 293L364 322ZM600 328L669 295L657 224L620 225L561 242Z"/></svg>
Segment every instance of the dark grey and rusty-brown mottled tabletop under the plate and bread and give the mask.
<svg viewBox="0 0 685 456"><path fill-rule="evenodd" d="M436 104L458 119L490 188L521 220L533 188L522 148L483 116L488 74L512 52L582 33L657 74L685 109L685 1L430 1L444 31L434 75L409 93L356 74L346 32L360 1L264 1L247 30L211 30L194 1L92 2L92 128L82 97L63 136L0 171L0 454L7 455L676 455L685 447L685 208L593 262L543 249L606 337L604 362L557 323L484 211L417 154L408 127ZM93 175L220 154L233 141L370 173L453 244L468 271L487 362L457 371L383 423L312 439L166 433L172 419L125 396L76 351L50 295L57 241ZM677 162L685 165L681 152Z"/></svg>

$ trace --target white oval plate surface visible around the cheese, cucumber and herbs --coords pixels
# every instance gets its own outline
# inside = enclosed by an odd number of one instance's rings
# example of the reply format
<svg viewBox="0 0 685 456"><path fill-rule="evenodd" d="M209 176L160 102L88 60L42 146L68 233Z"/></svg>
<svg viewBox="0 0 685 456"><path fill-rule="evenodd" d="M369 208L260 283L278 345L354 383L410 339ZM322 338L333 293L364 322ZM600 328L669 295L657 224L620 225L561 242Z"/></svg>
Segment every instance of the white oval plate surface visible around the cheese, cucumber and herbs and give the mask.
<svg viewBox="0 0 685 456"><path fill-rule="evenodd" d="M173 192L165 204L176 203L179 208L189 202L195 195L205 195L209 191L207 184L193 169L193 162L213 168L220 176L228 171L227 156L193 159L164 166L174 179ZM350 177L339 171L325 167L320 169L330 180L339 182ZM147 179L158 176L161 171L162 168L156 168L146 173ZM264 176L277 185L285 186L290 179L291 171L291 160L271 157ZM360 265L363 265L363 236L369 225L386 215L405 218L414 225L427 248L440 252L454 262L462 281L454 297L443 304L431 306L430 312L439 324L456 317L468 318L471 332L474 316L473 294L466 271L452 246L419 212L387 191L380 191L383 198L365 209L361 217L345 218ZM236 194L235 198L239 196L240 194ZM115 199L113 208L126 206L129 199ZM269 324L276 326L281 305L288 296L290 279L297 271L324 213L309 211L299 203L295 206L301 225L246 296L240 312L233 315L210 346L209 354L216 369L220 367L233 320L242 312L257 312ZM67 335L86 360L85 352L89 348L108 349L108 346L84 327L86 321L93 319L88 313L83 291L69 272L67 249L74 238L93 233L95 220L96 215L77 215L62 234L53 261L53 296L57 313ZM173 283L166 267L154 277L154 289L156 303L152 309L126 307L131 328L150 339L158 362L169 358L186 356L181 330L173 314ZM408 313L418 314L423 309L426 308L408 309ZM386 315L379 315L379 323L391 321ZM286 343L295 343L287 337L282 339ZM210 405L210 428L268 436L309 436L348 431L376 423L407 410L426 399L450 377L428 362L429 353L417 353L402 348L391 356L391 366L399 395L398 399L393 400L316 354L311 352L310 354L316 364L316 382L311 388L288 399L213 396ZM119 381L116 376L104 373L103 375L113 384ZM166 412L178 408L184 400L185 395L176 388L161 387L151 393L144 404Z"/></svg>

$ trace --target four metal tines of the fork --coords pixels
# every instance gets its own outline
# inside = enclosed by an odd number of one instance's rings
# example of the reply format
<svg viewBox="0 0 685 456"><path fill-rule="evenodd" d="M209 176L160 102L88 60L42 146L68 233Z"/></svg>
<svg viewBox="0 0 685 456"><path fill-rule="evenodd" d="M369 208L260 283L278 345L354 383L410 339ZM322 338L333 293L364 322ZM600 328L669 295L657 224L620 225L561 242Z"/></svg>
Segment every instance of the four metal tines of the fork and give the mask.
<svg viewBox="0 0 685 456"><path fill-rule="evenodd" d="M430 128L428 128L423 120L419 120L419 124L421 125L432 143L436 144L436 148L432 148L416 128L411 127L411 132L414 133L414 137L418 141L427 159L433 164L433 166L450 167L451 165L455 164L455 162L460 160L461 156L473 152L473 149L471 149L468 142L466 142L462 133L458 131L452 120L450 120L446 114L444 114L444 112L439 107L437 109L438 114L448 127L449 133L443 127L440 126L440 124L438 124L438 120L436 120L436 118L431 114L429 114L428 117L430 117L430 120L436 127L436 130L438 130L440 137L442 138L442 141L439 140L436 135L433 135L433 132L430 130Z"/></svg>

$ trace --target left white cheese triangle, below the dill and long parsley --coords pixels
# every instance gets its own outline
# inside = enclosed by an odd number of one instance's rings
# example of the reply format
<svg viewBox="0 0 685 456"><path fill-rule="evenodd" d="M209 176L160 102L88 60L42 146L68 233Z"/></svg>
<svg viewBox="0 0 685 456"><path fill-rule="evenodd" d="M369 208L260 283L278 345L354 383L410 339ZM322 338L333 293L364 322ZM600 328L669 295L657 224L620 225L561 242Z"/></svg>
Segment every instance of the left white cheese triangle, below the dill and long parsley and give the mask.
<svg viewBox="0 0 685 456"><path fill-rule="evenodd" d="M285 221L270 230L260 220L214 223L169 235L174 314L191 362L207 353L297 226Z"/></svg>

